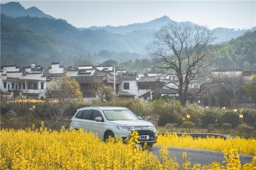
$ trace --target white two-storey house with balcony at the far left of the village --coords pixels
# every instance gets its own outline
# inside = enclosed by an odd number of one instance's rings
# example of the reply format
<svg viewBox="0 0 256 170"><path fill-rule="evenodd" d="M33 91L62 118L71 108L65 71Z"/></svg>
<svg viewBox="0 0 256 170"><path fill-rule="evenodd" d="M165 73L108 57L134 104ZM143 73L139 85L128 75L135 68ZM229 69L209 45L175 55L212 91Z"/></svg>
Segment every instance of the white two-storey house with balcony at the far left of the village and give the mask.
<svg viewBox="0 0 256 170"><path fill-rule="evenodd" d="M22 98L45 98L46 77L43 76L43 67L30 65L19 67L4 65L0 70L1 94L17 93Z"/></svg>

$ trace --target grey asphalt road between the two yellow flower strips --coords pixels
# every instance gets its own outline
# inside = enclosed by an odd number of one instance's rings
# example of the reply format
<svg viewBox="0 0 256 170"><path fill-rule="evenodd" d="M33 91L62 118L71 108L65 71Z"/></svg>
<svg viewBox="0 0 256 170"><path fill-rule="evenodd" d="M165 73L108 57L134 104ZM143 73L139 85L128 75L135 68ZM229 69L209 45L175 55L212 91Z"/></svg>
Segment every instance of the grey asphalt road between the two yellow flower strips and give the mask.
<svg viewBox="0 0 256 170"><path fill-rule="evenodd" d="M150 149L150 152L157 155L159 158L159 146L153 146ZM208 165L212 162L222 163L225 159L222 152L209 151L202 149L191 149L191 148L181 148L181 147L168 147L169 153L177 158L177 161L182 164L181 157L182 153L186 152L187 157L190 157L191 165L195 163L203 165ZM243 164L247 162L252 162L253 156L240 155L240 161Z"/></svg>

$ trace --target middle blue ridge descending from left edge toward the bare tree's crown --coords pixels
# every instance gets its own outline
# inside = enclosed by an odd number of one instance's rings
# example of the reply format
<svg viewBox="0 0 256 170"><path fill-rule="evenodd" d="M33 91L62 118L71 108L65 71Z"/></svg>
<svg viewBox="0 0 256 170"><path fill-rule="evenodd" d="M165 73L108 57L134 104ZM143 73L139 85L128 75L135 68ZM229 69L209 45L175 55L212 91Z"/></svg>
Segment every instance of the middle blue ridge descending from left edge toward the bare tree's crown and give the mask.
<svg viewBox="0 0 256 170"><path fill-rule="evenodd" d="M67 21L52 18L37 17L8 17L1 15L1 22L11 25L27 27L35 32L47 34L61 39L69 44L78 53L98 52L109 50L116 52L145 52L145 46L153 37L138 34L138 31L127 35L111 33L106 30L78 29ZM145 31L145 33L152 31Z"/></svg>

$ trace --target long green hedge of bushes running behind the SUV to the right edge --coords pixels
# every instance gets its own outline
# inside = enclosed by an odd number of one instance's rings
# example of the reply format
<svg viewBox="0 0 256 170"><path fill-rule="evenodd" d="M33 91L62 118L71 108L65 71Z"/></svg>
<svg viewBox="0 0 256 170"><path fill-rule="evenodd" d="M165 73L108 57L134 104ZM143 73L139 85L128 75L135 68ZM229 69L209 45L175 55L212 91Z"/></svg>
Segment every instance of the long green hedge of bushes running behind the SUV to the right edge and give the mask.
<svg viewBox="0 0 256 170"><path fill-rule="evenodd" d="M7 105L1 105L1 111L6 111L13 107L13 105L18 105L16 103L9 103ZM45 103L36 103L36 108L47 108ZM54 105L54 104L49 104ZM158 125L164 126L167 123L176 123L178 125L183 125L184 121L189 121L195 124L195 126L218 126L226 127L230 124L233 128L241 125L242 123L248 126L256 128L256 109L246 108L246 109L223 109L223 108L208 108L201 107L195 104L187 104L183 107L179 101L171 100L155 100L154 102L142 101L138 99L134 100L114 100L111 102L99 102L91 101L86 103L74 103L69 108L67 108L67 114L73 115L77 108L87 107L87 106L124 106L129 108L131 111L136 113L138 116L150 116L158 115L159 122ZM57 106L56 106L57 107ZM36 109L35 109L36 110ZM3 112L1 112L3 113ZM239 118L242 114L243 118ZM40 115L40 114L38 114ZM186 116L190 115L190 118ZM41 116L42 117L42 116Z"/></svg>

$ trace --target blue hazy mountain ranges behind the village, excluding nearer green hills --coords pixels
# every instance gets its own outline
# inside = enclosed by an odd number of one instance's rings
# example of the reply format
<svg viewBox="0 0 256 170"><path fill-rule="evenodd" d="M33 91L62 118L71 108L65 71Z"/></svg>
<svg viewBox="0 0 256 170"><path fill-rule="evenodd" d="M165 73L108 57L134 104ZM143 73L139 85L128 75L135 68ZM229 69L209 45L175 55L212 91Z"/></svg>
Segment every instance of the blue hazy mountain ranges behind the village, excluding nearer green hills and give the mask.
<svg viewBox="0 0 256 170"><path fill-rule="evenodd" d="M145 57L145 46L154 40L157 30L175 22L163 16L128 26L81 29L36 7L25 9L18 2L1 4L1 13L5 13L0 18L1 65L31 62L47 65L55 61L71 64L78 58L96 63L108 59L142 58ZM189 21L185 23L195 25ZM235 39L247 30L215 28L213 31L217 37L215 43L219 43Z"/></svg>

